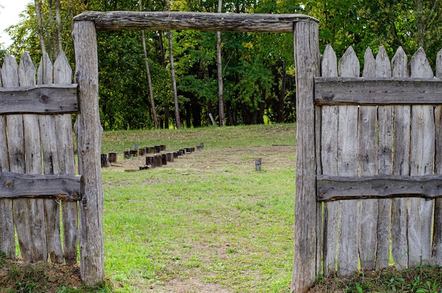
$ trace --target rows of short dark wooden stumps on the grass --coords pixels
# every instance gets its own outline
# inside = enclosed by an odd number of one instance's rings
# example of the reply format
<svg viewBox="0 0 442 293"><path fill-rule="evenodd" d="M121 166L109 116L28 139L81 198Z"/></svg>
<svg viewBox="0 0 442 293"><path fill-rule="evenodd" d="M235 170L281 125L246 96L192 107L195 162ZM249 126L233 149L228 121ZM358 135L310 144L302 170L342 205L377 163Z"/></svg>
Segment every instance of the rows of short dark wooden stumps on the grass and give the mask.
<svg viewBox="0 0 442 293"><path fill-rule="evenodd" d="M137 145L138 143L136 143L136 148L138 148ZM162 165L167 165L167 162L173 162L174 158L177 158L181 155L193 153L195 150L203 150L203 146L204 143L200 143L196 146L196 148L181 148L175 152L167 153L161 153L166 150L166 145L155 145L154 147L138 148L136 150L126 148L126 150L124 150L124 159L145 156L145 165L141 166L140 169L153 169L155 167L162 167ZM112 165L112 163L117 164L117 157L117 153L101 154L101 167L109 167L110 165Z"/></svg>

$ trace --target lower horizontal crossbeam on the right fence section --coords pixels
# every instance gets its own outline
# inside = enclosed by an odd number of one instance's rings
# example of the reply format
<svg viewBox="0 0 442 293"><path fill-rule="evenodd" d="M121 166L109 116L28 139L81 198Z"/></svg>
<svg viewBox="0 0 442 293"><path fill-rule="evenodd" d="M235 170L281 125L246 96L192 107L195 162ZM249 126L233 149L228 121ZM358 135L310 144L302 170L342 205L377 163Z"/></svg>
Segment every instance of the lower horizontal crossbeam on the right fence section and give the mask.
<svg viewBox="0 0 442 293"><path fill-rule="evenodd" d="M316 176L317 201L358 198L442 198L442 175Z"/></svg>

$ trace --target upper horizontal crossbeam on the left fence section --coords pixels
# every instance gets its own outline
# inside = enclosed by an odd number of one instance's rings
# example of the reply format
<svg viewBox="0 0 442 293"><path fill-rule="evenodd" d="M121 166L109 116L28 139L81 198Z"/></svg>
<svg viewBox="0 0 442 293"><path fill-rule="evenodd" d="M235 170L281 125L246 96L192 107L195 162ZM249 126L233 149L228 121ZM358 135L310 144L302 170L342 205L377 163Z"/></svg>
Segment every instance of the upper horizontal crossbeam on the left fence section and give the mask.
<svg viewBox="0 0 442 293"><path fill-rule="evenodd" d="M77 85L0 88L0 114L77 113Z"/></svg>

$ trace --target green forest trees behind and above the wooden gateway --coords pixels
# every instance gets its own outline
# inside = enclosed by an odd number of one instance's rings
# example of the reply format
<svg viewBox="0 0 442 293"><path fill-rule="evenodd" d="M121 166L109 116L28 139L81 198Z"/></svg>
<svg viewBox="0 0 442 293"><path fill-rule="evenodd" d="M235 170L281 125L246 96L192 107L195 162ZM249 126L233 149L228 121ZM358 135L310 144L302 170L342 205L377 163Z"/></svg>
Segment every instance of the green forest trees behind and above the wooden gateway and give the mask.
<svg viewBox="0 0 442 293"><path fill-rule="evenodd" d="M353 46L362 56L366 47L376 54L383 45L390 55L402 46L410 56L422 46L434 64L436 52L442 47L441 2L35 0L23 11L20 23L8 28L13 44L0 49L0 64L4 54L19 58L24 51L30 52L36 64L44 56L42 52L54 61L63 49L75 68L73 17L88 10L303 13L320 20L321 52L331 44L342 56L347 47ZM218 42L216 32L143 34L98 32L100 118L104 130L207 126L212 124L209 114L220 125L296 121L293 34L223 32ZM217 48L221 62L217 61ZM176 90L172 76L176 77Z"/></svg>

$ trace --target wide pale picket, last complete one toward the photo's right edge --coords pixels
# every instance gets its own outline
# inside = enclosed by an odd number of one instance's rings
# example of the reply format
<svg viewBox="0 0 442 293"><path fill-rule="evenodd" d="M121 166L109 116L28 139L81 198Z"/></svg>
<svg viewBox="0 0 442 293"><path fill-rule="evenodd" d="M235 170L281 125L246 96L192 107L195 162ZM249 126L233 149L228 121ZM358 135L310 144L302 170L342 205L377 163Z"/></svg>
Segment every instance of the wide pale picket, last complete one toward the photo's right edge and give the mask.
<svg viewBox="0 0 442 293"><path fill-rule="evenodd" d="M411 77L432 78L424 49L410 60ZM433 174L435 125L432 106L412 106L410 175ZM410 267L431 261L431 222L434 201L408 199L408 249Z"/></svg>

